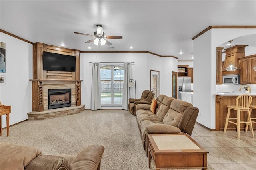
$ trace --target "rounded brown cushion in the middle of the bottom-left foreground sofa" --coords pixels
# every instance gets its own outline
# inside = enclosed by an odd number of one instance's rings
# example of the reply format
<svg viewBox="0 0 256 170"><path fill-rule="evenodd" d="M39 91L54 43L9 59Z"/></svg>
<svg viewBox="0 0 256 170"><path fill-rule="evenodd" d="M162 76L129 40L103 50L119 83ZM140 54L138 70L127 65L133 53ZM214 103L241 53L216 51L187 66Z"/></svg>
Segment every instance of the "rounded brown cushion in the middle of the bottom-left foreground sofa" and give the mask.
<svg viewBox="0 0 256 170"><path fill-rule="evenodd" d="M54 155L41 155L32 160L26 170L72 170L71 165L63 157Z"/></svg>

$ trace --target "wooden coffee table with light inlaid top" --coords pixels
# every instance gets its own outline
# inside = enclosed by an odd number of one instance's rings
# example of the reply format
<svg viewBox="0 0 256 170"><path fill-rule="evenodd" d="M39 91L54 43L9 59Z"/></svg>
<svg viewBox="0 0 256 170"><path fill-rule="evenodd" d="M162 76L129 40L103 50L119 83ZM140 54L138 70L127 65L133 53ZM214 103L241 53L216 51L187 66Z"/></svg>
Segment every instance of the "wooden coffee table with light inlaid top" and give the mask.
<svg viewBox="0 0 256 170"><path fill-rule="evenodd" d="M148 134L148 166L151 158L159 169L207 169L207 152L188 134Z"/></svg>

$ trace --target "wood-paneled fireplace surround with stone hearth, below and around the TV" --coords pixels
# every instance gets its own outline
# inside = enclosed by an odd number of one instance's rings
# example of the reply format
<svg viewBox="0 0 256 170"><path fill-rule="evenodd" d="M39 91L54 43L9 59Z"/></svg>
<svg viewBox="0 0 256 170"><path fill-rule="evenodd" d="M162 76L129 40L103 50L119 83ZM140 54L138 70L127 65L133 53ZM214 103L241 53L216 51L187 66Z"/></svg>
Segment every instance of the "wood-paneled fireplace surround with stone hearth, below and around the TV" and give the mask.
<svg viewBox="0 0 256 170"><path fill-rule="evenodd" d="M76 71L46 71L43 70L43 52L58 53L76 57ZM46 45L33 44L33 79L32 81L32 112L28 113L30 120L44 120L74 113L80 113L85 105L81 105L80 51ZM49 90L61 92L55 99L50 99ZM70 93L63 95L63 90ZM60 99L59 99L60 98ZM52 101L48 101L48 100ZM69 100L69 101L68 101ZM68 102L67 102L68 101ZM56 107L56 103L69 103ZM49 106L50 104L50 106Z"/></svg>

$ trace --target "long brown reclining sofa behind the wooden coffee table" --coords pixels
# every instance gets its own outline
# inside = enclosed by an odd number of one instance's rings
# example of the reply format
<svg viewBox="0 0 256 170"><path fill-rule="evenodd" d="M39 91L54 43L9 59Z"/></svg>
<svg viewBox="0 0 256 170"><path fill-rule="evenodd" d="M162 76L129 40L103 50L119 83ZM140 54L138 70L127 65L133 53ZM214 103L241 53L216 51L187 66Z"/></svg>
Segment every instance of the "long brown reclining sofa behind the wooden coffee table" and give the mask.
<svg viewBox="0 0 256 170"><path fill-rule="evenodd" d="M158 96L155 114L150 111L150 105L137 105L137 123L146 154L148 155L148 133L182 132L191 135L198 112L198 108L191 103L166 95Z"/></svg>

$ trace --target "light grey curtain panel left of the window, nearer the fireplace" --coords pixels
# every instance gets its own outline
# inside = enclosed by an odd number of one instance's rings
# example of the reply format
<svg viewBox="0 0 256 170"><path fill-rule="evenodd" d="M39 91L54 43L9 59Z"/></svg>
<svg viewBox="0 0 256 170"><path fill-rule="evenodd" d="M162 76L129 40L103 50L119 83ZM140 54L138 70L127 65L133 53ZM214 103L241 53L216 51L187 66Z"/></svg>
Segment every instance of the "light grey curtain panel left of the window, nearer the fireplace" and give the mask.
<svg viewBox="0 0 256 170"><path fill-rule="evenodd" d="M100 92L100 63L92 65L92 93L91 93L91 110L101 109L101 92Z"/></svg>

